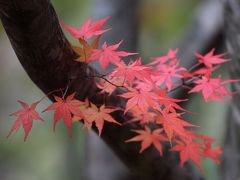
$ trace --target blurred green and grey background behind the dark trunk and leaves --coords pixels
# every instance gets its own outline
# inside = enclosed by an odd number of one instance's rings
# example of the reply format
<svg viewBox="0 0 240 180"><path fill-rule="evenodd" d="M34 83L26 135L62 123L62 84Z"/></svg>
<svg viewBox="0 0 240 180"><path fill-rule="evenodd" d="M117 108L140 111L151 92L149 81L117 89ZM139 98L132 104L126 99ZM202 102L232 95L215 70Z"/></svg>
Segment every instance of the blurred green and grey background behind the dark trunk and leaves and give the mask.
<svg viewBox="0 0 240 180"><path fill-rule="evenodd" d="M213 46L222 48L218 47L222 6L215 0L52 0L52 3L59 19L75 27L88 17L96 20L110 15L107 26L112 30L104 36L105 40L117 43L123 39L121 48L140 52L145 62L164 55L169 48L179 47L180 58L190 66L195 52L207 52ZM0 59L0 180L114 180L116 174L128 173L117 159L113 160L103 142L94 133L89 137L81 125L74 125L71 139L62 122L53 133L51 113L42 115L44 123L34 123L26 142L22 129L6 139L14 122L9 114L20 108L17 100L32 103L43 93L20 65L1 24ZM201 125L199 133L215 137L221 145L229 102L206 105L199 95L192 97L194 100L187 107L196 115L189 115L189 121ZM39 110L48 104L45 100ZM203 163L206 179L219 179L219 168L212 161Z"/></svg>

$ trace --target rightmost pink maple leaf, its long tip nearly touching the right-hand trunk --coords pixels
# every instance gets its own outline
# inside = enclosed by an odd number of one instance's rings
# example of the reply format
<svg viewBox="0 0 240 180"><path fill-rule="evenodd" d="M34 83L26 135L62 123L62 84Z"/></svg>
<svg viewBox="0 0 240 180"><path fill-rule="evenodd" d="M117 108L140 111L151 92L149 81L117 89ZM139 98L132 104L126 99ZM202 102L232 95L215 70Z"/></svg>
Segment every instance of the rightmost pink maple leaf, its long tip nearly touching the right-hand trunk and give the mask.
<svg viewBox="0 0 240 180"><path fill-rule="evenodd" d="M231 96L231 92L229 92L223 85L237 81L239 80L229 79L221 81L221 78L208 78L206 76L202 76L201 79L194 81L196 86L188 93L201 92L206 102L209 100L223 101L223 96Z"/></svg>

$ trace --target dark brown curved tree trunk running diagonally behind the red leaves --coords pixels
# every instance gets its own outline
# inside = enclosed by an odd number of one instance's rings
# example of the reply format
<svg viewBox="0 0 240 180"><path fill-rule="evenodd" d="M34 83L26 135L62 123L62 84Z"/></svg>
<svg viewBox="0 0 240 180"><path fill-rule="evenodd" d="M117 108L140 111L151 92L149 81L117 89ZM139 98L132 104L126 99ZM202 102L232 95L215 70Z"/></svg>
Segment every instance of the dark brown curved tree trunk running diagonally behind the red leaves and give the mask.
<svg viewBox="0 0 240 180"><path fill-rule="evenodd" d="M0 0L0 17L18 59L44 93L66 87L71 80L68 93L76 91L79 99L88 97L97 104L105 100L107 104L121 106L119 98L99 96L95 79L88 78L94 71L86 64L73 61L76 55L62 33L49 0ZM119 122L127 118L122 112L114 116ZM136 144L126 144L124 141L133 135L130 129L134 126L106 124L101 138L138 179L198 179L192 169L181 168L174 156L162 158L154 149L140 155Z"/></svg>

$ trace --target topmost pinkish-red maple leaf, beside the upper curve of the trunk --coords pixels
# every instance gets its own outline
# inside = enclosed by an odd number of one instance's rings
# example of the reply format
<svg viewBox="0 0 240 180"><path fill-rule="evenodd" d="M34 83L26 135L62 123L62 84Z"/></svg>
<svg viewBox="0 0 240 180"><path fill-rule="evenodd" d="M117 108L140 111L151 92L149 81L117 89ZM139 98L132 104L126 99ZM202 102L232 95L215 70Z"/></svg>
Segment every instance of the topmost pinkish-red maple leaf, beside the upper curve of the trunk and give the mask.
<svg viewBox="0 0 240 180"><path fill-rule="evenodd" d="M95 22L92 22L92 19L89 18L82 24L82 26L79 29L73 28L66 24L62 24L62 25L65 30L70 32L71 35L77 39L83 38L83 37L91 38L92 36L101 35L110 30L110 29L102 30L103 25L109 18L110 17L108 16L103 19L99 19Z"/></svg>

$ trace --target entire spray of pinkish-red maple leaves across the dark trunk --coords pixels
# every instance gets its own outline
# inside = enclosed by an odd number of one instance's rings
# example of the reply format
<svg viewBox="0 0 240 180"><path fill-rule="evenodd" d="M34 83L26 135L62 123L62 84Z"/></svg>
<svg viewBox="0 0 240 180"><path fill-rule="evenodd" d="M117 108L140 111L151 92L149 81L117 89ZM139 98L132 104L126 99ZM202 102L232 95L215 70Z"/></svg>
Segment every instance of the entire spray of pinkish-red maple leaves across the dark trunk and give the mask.
<svg viewBox="0 0 240 180"><path fill-rule="evenodd" d="M48 106L45 111L54 111L54 129L56 124L63 119L71 136L72 123L83 121L84 127L91 129L95 124L99 135L103 130L104 122L121 125L111 113L123 111L128 114L128 123L139 123L142 129L133 129L136 136L126 142L140 142L140 153L154 146L160 155L163 154L163 144L170 143L170 151L180 154L180 162L183 165L191 159L202 170L201 158L211 158L217 164L220 163L220 147L213 147L214 139L208 136L198 135L193 128L198 126L186 122L182 115L187 112L179 105L187 99L174 99L168 95L179 88L185 88L188 93L201 93L206 102L210 100L223 101L225 96L231 96L224 85L237 82L238 80L222 80L221 77L213 77L213 72L222 63L225 54L214 54L214 49L205 55L196 54L197 63L190 69L180 66L177 58L178 49L170 49L160 57L155 57L150 63L143 65L141 58L125 63L122 57L136 55L119 51L122 41L114 45L106 42L99 48L101 35L110 29L102 29L109 17L92 22L89 18L79 29L63 24L63 27L75 37L80 46L72 46L79 54L75 61L91 63L97 61L101 66L102 75L96 82L100 93L118 93L119 98L126 99L125 109L107 107L104 104L98 107L92 102L80 101L74 98L75 94L68 97L55 97L55 102ZM109 65L114 65L113 70L105 74ZM116 91L121 89L121 91ZM121 93L120 93L121 92ZM25 131L26 140L34 120L42 121L36 106L41 100L28 105L19 101L23 107L11 115L17 120L10 130L9 136L19 127ZM151 128L150 128L151 127Z"/></svg>

